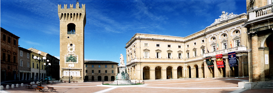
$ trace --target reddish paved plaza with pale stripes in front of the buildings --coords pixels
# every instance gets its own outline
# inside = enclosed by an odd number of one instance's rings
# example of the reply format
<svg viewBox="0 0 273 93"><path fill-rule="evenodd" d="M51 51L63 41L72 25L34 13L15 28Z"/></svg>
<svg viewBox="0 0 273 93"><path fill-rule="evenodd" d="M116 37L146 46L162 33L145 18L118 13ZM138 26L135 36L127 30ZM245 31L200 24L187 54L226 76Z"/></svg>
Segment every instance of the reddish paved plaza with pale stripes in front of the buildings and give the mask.
<svg viewBox="0 0 273 93"><path fill-rule="evenodd" d="M243 90L238 82L248 81L248 78L196 78L196 79L168 79L145 81L143 85L102 85L101 82L60 83L53 85L42 84L57 89L60 93L272 93L273 89ZM19 82L19 81L18 81ZM6 89L6 85L13 82L1 83L4 90L1 93L36 93L35 89L16 87ZM24 85L28 83L25 82ZM47 91L50 92L50 91Z"/></svg>

